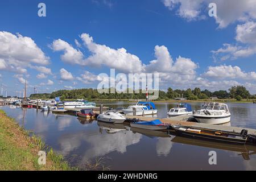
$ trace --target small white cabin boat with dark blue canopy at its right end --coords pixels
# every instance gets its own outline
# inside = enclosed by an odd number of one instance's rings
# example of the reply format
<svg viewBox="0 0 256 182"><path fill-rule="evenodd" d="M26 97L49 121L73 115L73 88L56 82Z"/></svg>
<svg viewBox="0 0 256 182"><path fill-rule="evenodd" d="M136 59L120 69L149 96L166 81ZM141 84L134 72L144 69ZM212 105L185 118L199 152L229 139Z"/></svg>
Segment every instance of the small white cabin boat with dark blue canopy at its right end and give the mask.
<svg viewBox="0 0 256 182"><path fill-rule="evenodd" d="M176 107L170 109L167 113L169 117L176 117L179 115L192 115L192 107L190 104L187 103L179 103Z"/></svg>

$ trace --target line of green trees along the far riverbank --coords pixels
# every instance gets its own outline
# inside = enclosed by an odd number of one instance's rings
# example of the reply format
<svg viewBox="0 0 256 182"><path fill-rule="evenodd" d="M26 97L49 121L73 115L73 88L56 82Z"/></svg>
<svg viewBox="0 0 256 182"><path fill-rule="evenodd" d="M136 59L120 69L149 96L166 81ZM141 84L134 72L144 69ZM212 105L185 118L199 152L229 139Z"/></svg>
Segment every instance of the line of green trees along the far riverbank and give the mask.
<svg viewBox="0 0 256 182"><path fill-rule="evenodd" d="M139 93L135 91L133 94L130 93L117 93L110 94L109 93L98 93L97 89L75 89L75 90L58 90L56 92L43 93L43 94L31 94L30 98L41 98L41 99L51 99L55 97L60 97L61 100L65 99L86 99L86 100L93 100L93 99L144 99L145 94L142 93L142 90L139 90ZM256 99L255 95L251 95L250 92L244 86L232 86L229 89L229 92L226 90L219 90L216 92L210 92L209 90L201 90L200 88L195 89L187 89L187 90L180 90L176 89L173 90L172 88L168 88L167 92L163 90L159 90L159 100L171 100L177 97L184 97L187 100L198 100L198 99L209 99L210 97L217 97L218 99L227 99L227 98L234 98L238 101L242 99Z"/></svg>

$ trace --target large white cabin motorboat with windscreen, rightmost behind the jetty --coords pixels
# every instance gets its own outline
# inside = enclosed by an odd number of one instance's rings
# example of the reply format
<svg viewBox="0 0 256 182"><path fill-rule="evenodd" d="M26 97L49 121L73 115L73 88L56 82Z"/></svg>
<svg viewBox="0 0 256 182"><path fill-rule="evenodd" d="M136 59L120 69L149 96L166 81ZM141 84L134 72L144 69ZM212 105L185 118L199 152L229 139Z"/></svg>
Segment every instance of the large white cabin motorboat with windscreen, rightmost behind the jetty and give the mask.
<svg viewBox="0 0 256 182"><path fill-rule="evenodd" d="M200 123L218 125L230 122L231 114L226 104L205 102L202 109L197 110L193 117Z"/></svg>

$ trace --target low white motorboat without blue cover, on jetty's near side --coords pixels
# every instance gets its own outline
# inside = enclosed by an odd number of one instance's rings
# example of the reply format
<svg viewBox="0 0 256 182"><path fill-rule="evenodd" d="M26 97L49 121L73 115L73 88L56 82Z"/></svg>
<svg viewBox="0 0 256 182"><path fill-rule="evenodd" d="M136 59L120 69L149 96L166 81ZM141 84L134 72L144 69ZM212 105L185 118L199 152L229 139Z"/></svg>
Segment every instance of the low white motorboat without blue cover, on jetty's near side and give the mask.
<svg viewBox="0 0 256 182"><path fill-rule="evenodd" d="M109 123L123 123L126 118L115 111L109 110L106 113L99 114L97 117L98 121L104 121Z"/></svg>

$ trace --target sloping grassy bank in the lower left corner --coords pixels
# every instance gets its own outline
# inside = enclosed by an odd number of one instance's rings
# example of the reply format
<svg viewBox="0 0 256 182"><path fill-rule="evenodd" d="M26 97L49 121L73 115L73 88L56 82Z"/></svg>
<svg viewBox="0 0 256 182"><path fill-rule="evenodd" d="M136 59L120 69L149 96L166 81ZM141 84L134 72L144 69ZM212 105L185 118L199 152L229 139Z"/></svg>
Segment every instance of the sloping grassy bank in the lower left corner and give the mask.
<svg viewBox="0 0 256 182"><path fill-rule="evenodd" d="M38 151L46 151L46 165L38 164ZM63 156L46 147L43 140L19 127L0 110L0 170L69 170Z"/></svg>

